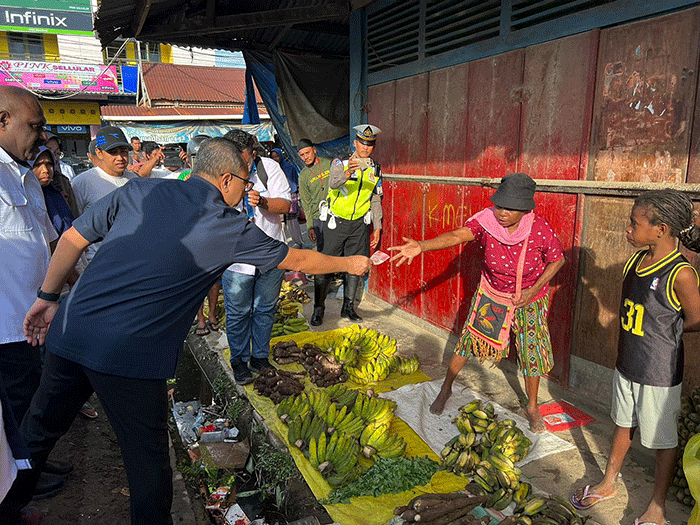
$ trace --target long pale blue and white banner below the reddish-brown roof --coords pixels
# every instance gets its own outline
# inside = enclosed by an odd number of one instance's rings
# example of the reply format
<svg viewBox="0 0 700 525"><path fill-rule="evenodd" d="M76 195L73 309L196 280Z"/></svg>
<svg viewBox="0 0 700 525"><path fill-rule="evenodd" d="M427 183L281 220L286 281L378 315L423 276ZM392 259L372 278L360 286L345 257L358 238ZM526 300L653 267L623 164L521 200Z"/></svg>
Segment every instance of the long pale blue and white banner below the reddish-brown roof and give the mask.
<svg viewBox="0 0 700 525"><path fill-rule="evenodd" d="M173 124L147 124L141 122L114 122L127 137L139 137L159 144L186 143L195 135L221 137L227 131L238 128L258 137L260 142L274 141L272 122L256 125L243 125L218 120L184 121Z"/></svg>

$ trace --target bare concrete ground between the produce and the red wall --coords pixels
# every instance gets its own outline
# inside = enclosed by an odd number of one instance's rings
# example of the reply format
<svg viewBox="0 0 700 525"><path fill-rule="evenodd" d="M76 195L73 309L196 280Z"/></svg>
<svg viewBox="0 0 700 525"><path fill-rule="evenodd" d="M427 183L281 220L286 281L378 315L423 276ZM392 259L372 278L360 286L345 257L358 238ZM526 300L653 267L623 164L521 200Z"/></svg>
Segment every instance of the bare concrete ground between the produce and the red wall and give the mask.
<svg viewBox="0 0 700 525"><path fill-rule="evenodd" d="M313 297L313 285L305 286ZM326 300L323 325L312 330L324 331L346 326L340 318L342 300L336 298L335 287ZM410 357L418 354L421 370L428 376L439 379L445 375L456 338L444 330L421 319L408 315L392 305L369 294L365 294L356 308L364 318L362 326L374 328L398 340L399 353ZM305 316L311 318L313 304L305 305ZM225 337L207 336L210 346L225 344ZM524 382L513 363L502 362L498 366L480 365L469 361L455 382L467 386L490 398L499 405L525 416ZM539 490L558 494L566 499L578 487L596 484L602 477L614 424L609 416L610 399L595 399L577 395L561 386L543 380L540 387L540 403L565 400L595 418L595 422L557 432L557 435L575 445L574 450L552 454L523 467L523 475ZM653 490L654 455L644 449L638 440L632 445L621 473L616 498L603 501L588 512L601 525L632 525L640 516ZM667 502L667 519L673 525L687 522L690 509L675 500Z"/></svg>

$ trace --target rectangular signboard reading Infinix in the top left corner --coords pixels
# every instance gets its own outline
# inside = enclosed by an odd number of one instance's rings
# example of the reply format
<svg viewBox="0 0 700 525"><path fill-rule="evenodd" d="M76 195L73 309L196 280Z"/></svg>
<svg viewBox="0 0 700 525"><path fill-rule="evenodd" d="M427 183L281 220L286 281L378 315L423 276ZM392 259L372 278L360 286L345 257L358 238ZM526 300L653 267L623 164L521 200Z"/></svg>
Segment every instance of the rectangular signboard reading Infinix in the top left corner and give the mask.
<svg viewBox="0 0 700 525"><path fill-rule="evenodd" d="M0 30L92 35L90 0L2 0Z"/></svg>

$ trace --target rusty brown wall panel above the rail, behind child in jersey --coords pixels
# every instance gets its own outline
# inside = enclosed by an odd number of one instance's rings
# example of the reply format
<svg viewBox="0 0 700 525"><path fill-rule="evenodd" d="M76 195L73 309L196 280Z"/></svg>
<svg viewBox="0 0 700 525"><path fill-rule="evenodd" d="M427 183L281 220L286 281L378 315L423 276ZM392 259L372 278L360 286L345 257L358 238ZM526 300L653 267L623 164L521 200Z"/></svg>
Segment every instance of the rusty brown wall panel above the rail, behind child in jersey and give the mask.
<svg viewBox="0 0 700 525"><path fill-rule="evenodd" d="M687 9L601 32L589 178L685 182L699 13Z"/></svg>

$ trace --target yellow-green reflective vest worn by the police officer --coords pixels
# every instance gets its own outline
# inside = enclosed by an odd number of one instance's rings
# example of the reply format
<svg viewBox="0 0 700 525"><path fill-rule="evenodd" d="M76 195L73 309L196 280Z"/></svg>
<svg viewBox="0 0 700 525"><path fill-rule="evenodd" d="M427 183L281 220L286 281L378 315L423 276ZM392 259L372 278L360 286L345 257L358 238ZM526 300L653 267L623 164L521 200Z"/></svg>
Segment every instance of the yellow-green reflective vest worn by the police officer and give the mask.
<svg viewBox="0 0 700 525"><path fill-rule="evenodd" d="M343 161L347 171L348 161ZM328 205L333 215L349 221L360 219L369 211L370 200L381 180L378 164L365 170L356 170L338 189L329 189Z"/></svg>

